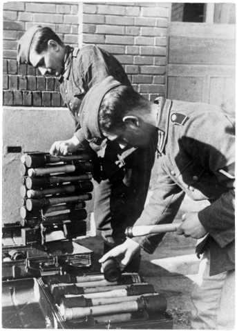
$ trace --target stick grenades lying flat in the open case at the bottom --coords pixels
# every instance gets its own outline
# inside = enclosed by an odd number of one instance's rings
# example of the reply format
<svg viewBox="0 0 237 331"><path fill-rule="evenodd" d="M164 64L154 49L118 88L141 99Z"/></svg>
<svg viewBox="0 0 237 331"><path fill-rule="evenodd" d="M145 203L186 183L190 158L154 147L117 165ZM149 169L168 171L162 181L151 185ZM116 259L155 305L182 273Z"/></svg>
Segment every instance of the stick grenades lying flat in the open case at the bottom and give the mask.
<svg viewBox="0 0 237 331"><path fill-rule="evenodd" d="M102 327L108 321L126 323L149 321L151 315L165 312L167 300L155 292L153 285L144 282L136 273L122 274L109 282L103 274L54 275L48 277L48 290L57 304L64 321L82 323L93 319ZM84 323L84 324L83 324ZM79 328L79 324L77 324Z"/></svg>

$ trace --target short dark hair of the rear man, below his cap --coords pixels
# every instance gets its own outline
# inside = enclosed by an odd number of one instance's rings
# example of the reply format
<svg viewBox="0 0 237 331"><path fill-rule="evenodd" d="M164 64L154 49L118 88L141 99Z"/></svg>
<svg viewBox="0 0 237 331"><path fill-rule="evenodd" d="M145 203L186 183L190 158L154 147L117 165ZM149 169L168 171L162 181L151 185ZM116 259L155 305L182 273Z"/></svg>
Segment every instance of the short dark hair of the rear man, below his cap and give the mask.
<svg viewBox="0 0 237 331"><path fill-rule="evenodd" d="M44 27L35 33L30 48L33 48L37 54L40 54L48 48L48 41L50 39L56 41L60 46L64 45L64 43L52 29Z"/></svg>

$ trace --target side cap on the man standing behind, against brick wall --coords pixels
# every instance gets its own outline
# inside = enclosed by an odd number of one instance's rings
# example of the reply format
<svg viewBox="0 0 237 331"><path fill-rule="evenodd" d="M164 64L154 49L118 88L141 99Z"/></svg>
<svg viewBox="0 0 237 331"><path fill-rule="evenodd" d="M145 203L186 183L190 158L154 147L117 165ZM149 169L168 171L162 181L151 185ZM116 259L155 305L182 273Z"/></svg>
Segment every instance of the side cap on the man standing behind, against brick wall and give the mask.
<svg viewBox="0 0 237 331"><path fill-rule="evenodd" d="M27 63L30 64L30 46L32 40L37 31L39 31L41 26L32 26L29 30L27 30L21 39L19 39L17 46L17 62L18 63Z"/></svg>

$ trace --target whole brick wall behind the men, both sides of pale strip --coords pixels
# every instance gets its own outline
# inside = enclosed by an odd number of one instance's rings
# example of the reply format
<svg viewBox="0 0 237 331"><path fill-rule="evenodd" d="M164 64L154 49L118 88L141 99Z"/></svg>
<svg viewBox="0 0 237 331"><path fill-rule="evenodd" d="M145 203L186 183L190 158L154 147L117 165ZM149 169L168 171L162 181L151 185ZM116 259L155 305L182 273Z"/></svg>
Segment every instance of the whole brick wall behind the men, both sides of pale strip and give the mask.
<svg viewBox="0 0 237 331"><path fill-rule="evenodd" d="M97 45L122 63L149 100L166 94L171 3L19 2L3 4L3 105L63 106L56 78L17 65L17 41L32 25L49 26L71 46Z"/></svg>

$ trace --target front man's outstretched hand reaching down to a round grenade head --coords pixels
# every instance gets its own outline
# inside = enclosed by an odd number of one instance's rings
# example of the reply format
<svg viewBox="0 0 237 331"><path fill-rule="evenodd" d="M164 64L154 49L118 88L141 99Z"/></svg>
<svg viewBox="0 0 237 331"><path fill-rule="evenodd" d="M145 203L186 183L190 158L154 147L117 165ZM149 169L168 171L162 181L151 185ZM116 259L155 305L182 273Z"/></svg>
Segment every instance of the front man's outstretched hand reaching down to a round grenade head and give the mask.
<svg viewBox="0 0 237 331"><path fill-rule="evenodd" d="M108 260L110 257L115 257L117 260L118 264L120 265L120 269L124 269L126 265L129 264L131 261L131 258L140 249L139 243L136 243L132 239L126 239L124 243L121 245L116 246L104 256L99 259L99 263L103 263L104 261Z"/></svg>

